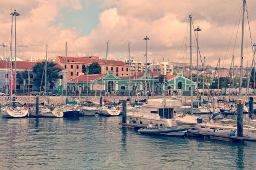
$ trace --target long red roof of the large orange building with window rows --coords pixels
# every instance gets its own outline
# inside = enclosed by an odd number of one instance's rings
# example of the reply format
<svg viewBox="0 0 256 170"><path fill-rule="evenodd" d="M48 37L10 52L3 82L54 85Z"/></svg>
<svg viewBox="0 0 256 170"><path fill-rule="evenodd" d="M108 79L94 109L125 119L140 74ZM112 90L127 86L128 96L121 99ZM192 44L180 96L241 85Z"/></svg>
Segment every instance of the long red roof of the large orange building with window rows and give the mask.
<svg viewBox="0 0 256 170"><path fill-rule="evenodd" d="M62 57L62 56L57 56L61 62L75 62L75 63L93 63L97 62L99 64L105 64L104 59L98 59L98 58L85 58L85 57ZM119 60L107 60L106 64L109 65L127 65L123 61Z"/></svg>

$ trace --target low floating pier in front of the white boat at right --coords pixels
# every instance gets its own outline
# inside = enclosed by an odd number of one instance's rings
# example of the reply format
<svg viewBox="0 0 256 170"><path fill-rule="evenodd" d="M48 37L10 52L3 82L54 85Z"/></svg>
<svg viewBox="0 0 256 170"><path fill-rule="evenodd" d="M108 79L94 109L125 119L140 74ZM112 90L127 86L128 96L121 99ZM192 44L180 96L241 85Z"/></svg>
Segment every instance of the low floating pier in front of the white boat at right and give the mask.
<svg viewBox="0 0 256 170"><path fill-rule="evenodd" d="M248 136L239 137L239 136L230 136L226 134L221 134L217 132L202 132L194 129L189 129L188 136L191 137L204 137L215 140L229 141L229 142L244 142L246 139L250 139Z"/></svg>

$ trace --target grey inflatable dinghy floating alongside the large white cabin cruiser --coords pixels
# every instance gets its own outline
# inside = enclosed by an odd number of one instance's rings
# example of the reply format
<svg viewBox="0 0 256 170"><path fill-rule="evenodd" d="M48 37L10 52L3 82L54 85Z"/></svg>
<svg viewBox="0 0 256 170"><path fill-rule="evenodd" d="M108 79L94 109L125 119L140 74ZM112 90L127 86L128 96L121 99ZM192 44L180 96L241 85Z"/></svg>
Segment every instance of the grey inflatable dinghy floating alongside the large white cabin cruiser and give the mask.
<svg viewBox="0 0 256 170"><path fill-rule="evenodd" d="M151 128L148 126L147 128L141 128L138 130L141 134L148 134L148 135L168 135L168 136L184 136L189 126L176 126L176 127L160 127L160 128Z"/></svg>

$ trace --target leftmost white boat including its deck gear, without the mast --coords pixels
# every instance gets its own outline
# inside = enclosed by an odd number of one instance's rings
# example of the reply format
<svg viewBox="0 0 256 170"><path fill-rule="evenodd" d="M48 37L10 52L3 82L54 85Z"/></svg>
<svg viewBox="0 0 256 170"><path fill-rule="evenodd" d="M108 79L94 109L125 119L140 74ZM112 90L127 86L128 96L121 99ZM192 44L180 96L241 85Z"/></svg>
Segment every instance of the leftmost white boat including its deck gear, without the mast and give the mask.
<svg viewBox="0 0 256 170"><path fill-rule="evenodd" d="M29 107L25 102L8 102L7 106L1 108L3 117L20 118L27 116Z"/></svg>

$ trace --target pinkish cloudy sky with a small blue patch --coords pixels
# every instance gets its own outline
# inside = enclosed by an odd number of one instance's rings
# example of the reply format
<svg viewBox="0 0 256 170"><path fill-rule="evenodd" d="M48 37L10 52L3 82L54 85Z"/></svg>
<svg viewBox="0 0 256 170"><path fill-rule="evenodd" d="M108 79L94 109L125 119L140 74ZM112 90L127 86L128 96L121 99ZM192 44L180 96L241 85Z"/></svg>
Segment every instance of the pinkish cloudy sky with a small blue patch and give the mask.
<svg viewBox="0 0 256 170"><path fill-rule="evenodd" d="M256 41L255 6L256 1L247 0L252 42ZM191 14L194 27L202 29L199 48L206 64L216 66L220 57L221 66L229 67L233 50L235 64L240 65L241 7L242 0L4 1L0 8L0 39L1 43L10 46L10 13L16 9L20 13L17 17L17 44L38 46L18 47L17 55L22 59L44 58L46 43L49 44L50 58L64 55L66 41L69 56L104 57L106 41L109 41L110 59L121 60L127 58L127 42L130 41L131 56L144 61L146 45L143 38L147 35L150 38L147 45L149 61L189 62ZM244 65L247 61L251 65L252 48L247 20L244 39ZM8 47L6 53L9 54ZM193 63L196 63L194 33Z"/></svg>

